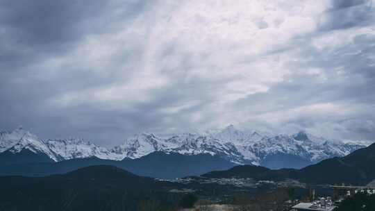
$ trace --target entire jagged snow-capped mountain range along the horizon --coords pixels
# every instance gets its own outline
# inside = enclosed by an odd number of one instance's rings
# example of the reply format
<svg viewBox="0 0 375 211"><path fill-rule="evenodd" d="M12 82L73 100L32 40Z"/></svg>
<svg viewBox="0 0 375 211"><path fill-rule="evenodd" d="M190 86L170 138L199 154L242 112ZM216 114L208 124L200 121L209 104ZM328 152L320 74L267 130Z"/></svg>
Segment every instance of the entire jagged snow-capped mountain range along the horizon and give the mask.
<svg viewBox="0 0 375 211"><path fill-rule="evenodd" d="M107 160L134 159L154 151L163 151L184 155L210 153L235 164L259 165L272 155L294 156L315 163L326 158L347 155L365 146L356 142L334 142L303 131L292 135L269 135L238 130L233 125L215 132L182 133L167 138L152 133L139 133L113 149L81 139L42 140L23 128L0 133L0 153L9 151L15 154L28 149L33 153L44 153L56 162L88 157Z"/></svg>

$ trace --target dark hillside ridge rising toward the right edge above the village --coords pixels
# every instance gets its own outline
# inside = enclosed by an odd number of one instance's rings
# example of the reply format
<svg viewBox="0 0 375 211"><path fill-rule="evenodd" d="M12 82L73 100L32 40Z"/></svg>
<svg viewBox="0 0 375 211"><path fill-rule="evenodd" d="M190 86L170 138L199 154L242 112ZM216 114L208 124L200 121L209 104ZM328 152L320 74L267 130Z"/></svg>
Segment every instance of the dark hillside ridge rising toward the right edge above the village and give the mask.
<svg viewBox="0 0 375 211"><path fill-rule="evenodd" d="M375 178L375 144L358 149L343 158L330 158L303 169L272 170L264 167L238 166L226 171L213 171L202 176L210 178L255 178L284 180L293 178L305 183L365 185Z"/></svg>

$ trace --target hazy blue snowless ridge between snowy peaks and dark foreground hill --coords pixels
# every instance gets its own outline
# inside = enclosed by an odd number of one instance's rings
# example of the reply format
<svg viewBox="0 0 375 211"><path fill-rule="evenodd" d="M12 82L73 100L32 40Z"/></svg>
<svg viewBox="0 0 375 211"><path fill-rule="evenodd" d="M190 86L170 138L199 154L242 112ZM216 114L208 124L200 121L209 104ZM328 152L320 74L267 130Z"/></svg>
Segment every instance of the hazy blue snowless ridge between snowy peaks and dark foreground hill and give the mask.
<svg viewBox="0 0 375 211"><path fill-rule="evenodd" d="M154 152L138 159L122 161L81 158L62 162L37 162L32 164L10 164L0 168L0 175L47 176L65 174L82 167L108 164L153 178L179 178L224 170L235 164L209 154L181 155L178 153Z"/></svg>

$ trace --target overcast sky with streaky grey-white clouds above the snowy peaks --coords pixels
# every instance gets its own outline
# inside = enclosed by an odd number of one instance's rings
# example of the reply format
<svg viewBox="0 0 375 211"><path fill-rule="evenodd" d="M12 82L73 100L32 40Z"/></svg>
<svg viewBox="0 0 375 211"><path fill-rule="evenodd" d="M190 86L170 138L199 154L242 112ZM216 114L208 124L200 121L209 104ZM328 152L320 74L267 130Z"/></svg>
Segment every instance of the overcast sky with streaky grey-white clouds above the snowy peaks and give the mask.
<svg viewBox="0 0 375 211"><path fill-rule="evenodd" d="M375 140L375 0L0 0L0 130Z"/></svg>

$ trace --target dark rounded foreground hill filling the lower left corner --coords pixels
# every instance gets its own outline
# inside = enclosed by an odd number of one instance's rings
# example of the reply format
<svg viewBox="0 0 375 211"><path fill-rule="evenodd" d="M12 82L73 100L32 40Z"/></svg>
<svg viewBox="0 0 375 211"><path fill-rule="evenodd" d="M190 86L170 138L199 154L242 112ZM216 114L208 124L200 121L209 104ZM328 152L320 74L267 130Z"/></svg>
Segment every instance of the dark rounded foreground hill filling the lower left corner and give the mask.
<svg viewBox="0 0 375 211"><path fill-rule="evenodd" d="M136 176L112 166L92 166L44 178L0 177L0 210L138 210L153 203L168 210L178 184Z"/></svg>

